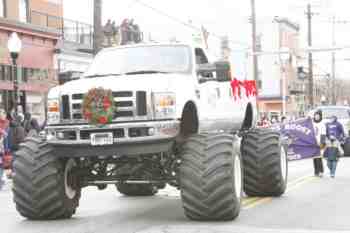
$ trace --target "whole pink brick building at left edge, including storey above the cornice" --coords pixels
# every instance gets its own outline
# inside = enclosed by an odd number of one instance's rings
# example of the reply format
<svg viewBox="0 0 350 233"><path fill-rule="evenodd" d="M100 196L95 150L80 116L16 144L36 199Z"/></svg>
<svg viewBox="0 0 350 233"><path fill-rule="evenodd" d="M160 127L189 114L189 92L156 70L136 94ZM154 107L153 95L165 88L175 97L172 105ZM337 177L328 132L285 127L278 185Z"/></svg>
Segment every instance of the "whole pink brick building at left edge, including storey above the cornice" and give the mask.
<svg viewBox="0 0 350 233"><path fill-rule="evenodd" d="M41 120L45 96L57 85L56 45L61 37L59 20L62 0L0 0L0 106L13 108L13 67L7 41L12 32L22 40L18 58L19 111L29 111Z"/></svg>

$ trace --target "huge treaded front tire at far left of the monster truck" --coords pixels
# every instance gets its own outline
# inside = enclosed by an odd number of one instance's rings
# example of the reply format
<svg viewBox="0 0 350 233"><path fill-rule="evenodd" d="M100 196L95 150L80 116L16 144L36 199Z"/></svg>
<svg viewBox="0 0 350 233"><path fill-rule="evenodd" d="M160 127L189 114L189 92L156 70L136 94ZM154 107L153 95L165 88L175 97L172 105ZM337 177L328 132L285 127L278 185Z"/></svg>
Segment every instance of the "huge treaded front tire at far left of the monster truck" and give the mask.
<svg viewBox="0 0 350 233"><path fill-rule="evenodd" d="M16 152L13 195L17 211L28 219L70 218L79 205L81 188L68 185L74 160L59 160L38 138L27 138Z"/></svg>

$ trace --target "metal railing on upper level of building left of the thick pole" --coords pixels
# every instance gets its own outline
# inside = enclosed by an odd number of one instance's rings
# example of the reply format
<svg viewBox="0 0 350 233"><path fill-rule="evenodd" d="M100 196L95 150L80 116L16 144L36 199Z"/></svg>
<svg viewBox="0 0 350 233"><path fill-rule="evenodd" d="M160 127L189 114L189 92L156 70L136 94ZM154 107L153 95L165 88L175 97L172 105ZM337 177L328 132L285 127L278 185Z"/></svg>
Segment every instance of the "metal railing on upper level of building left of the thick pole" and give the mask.
<svg viewBox="0 0 350 233"><path fill-rule="evenodd" d="M49 15L39 11L30 12L30 23L61 31L62 39L92 47L93 27L90 24Z"/></svg>

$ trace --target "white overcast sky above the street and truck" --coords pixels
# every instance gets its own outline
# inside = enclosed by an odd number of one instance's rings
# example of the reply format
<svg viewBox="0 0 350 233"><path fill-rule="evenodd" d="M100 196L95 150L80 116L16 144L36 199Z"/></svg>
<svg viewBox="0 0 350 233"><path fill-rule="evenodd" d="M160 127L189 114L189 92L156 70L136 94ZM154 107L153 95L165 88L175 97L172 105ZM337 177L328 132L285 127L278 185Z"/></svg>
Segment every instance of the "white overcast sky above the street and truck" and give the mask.
<svg viewBox="0 0 350 233"><path fill-rule="evenodd" d="M93 0L63 0L64 16L92 24ZM217 35L228 35L232 41L242 44L231 44L234 49L251 44L251 25L249 0L141 0L181 21L191 20L194 25L204 25L209 32ZM259 25L271 23L274 16L288 17L301 26L300 45L306 45L307 21L306 4L313 4L313 44L331 46L332 27L329 22L335 15L339 20L349 20L348 24L336 25L337 45L350 45L350 1L349 0L256 0L256 14ZM143 31L151 31L152 37L169 39L191 33L191 29L143 6L135 0L103 0L103 21L134 18ZM264 33L264 32L262 32ZM265 35L264 35L265 36ZM218 42L214 37L211 41ZM217 43L215 47L217 47ZM305 55L306 56L306 55ZM331 56L329 53L314 55L315 63L325 72L330 72ZM337 76L350 79L350 50L337 54ZM339 60L338 60L339 59Z"/></svg>

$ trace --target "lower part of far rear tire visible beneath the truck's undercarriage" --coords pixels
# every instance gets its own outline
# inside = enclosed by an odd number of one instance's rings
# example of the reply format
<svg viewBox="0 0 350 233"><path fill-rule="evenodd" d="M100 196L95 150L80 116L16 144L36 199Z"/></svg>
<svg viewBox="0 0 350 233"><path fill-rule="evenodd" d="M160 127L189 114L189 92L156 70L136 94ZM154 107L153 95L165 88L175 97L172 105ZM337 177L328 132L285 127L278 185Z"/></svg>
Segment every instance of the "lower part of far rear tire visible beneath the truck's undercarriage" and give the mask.
<svg viewBox="0 0 350 233"><path fill-rule="evenodd" d="M117 184L117 190L126 196L153 196L158 188L151 184Z"/></svg>

